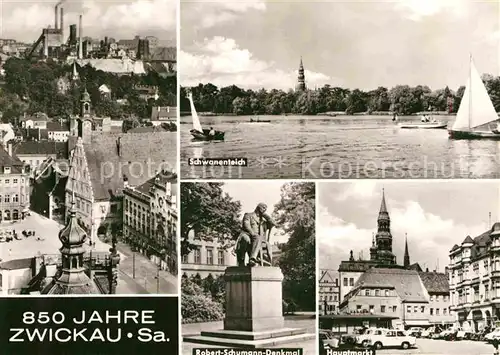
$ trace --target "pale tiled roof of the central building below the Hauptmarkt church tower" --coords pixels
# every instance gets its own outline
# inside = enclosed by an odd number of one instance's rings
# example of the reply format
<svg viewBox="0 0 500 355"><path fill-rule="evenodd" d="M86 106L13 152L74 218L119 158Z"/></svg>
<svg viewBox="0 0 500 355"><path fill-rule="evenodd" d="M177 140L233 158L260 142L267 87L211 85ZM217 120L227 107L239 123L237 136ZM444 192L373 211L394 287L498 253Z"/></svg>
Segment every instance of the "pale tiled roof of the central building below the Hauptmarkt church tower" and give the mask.
<svg viewBox="0 0 500 355"><path fill-rule="evenodd" d="M371 268L360 276L355 288L394 287L403 302L427 302L424 285L417 271Z"/></svg>

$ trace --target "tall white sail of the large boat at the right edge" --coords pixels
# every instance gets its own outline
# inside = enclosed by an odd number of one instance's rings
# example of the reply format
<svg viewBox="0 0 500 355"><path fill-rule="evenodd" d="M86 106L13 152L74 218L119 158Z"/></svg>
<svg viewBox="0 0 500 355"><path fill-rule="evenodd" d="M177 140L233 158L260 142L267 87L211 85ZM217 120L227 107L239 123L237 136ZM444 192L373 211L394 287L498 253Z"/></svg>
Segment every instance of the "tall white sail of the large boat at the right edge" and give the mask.
<svg viewBox="0 0 500 355"><path fill-rule="evenodd" d="M488 91L471 58L470 74L452 130L472 130L498 120Z"/></svg>

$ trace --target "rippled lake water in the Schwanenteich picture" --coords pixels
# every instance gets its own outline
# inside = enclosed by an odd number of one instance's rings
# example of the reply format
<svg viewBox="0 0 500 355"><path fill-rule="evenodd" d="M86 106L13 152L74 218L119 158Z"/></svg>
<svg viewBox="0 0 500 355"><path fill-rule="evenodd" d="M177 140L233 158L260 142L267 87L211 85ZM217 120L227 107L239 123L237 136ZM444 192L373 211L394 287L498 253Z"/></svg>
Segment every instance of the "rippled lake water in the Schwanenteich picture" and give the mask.
<svg viewBox="0 0 500 355"><path fill-rule="evenodd" d="M453 122L454 116L435 116ZM401 129L389 116L201 117L223 142L194 142L181 117L185 179L499 178L500 141L452 140L446 129ZM419 122L402 117L400 122ZM189 166L189 158L247 158L247 167Z"/></svg>

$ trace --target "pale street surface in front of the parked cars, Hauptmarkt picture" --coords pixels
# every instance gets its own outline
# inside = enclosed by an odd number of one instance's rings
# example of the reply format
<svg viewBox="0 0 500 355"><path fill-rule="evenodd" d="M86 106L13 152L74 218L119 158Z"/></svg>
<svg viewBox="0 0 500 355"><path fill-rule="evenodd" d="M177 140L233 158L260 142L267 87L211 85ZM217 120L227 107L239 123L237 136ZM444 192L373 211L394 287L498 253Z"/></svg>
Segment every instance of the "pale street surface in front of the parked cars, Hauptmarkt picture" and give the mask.
<svg viewBox="0 0 500 355"><path fill-rule="evenodd" d="M417 339L418 349L382 349L377 350L377 355L493 355L495 348L493 345L482 341L446 341L437 339Z"/></svg>

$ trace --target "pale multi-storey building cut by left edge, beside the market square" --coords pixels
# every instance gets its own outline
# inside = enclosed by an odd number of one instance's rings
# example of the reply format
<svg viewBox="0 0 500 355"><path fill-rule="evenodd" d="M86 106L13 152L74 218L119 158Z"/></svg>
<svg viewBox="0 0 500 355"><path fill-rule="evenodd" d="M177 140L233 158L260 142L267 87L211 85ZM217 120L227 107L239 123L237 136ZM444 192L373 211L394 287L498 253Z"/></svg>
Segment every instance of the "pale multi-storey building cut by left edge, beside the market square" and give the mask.
<svg viewBox="0 0 500 355"><path fill-rule="evenodd" d="M0 147L0 221L21 219L30 205L29 172L22 161Z"/></svg>

